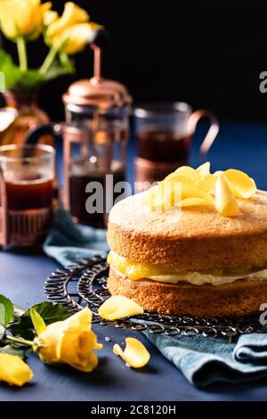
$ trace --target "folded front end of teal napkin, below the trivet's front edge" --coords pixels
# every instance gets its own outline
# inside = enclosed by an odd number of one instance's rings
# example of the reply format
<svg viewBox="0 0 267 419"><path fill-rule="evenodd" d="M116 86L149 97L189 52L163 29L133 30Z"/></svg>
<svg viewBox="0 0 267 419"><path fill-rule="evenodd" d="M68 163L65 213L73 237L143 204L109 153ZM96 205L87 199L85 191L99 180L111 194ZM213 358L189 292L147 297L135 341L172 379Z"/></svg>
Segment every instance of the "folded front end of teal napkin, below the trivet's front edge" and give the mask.
<svg viewBox="0 0 267 419"><path fill-rule="evenodd" d="M249 382L267 376L266 333L242 335L236 344L201 335L145 335L197 387L215 382Z"/></svg>

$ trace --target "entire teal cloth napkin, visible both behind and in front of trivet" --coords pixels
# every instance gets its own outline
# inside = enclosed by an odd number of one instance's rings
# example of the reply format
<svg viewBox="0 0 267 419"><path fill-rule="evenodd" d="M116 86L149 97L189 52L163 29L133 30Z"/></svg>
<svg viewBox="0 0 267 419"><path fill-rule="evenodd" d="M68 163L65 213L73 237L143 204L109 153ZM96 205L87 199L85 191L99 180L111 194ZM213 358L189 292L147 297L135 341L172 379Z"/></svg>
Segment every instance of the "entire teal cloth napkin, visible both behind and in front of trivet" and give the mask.
<svg viewBox="0 0 267 419"><path fill-rule="evenodd" d="M44 252L62 266L109 250L106 231L73 224L58 209ZM247 382L267 376L267 334L239 337L237 344L223 338L166 336L145 332L160 352L182 371L189 382L205 387L214 382Z"/></svg>

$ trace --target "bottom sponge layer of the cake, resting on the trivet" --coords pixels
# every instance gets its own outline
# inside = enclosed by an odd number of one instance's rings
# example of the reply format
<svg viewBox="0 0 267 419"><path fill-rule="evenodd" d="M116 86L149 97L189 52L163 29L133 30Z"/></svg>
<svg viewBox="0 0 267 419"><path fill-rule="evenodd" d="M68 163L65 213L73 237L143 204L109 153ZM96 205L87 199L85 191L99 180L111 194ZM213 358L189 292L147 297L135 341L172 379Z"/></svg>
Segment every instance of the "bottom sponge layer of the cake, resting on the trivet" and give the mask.
<svg viewBox="0 0 267 419"><path fill-rule="evenodd" d="M241 316L256 313L267 303L266 281L240 279L216 286L132 281L112 265L108 288L111 295L123 295L144 310L166 315Z"/></svg>

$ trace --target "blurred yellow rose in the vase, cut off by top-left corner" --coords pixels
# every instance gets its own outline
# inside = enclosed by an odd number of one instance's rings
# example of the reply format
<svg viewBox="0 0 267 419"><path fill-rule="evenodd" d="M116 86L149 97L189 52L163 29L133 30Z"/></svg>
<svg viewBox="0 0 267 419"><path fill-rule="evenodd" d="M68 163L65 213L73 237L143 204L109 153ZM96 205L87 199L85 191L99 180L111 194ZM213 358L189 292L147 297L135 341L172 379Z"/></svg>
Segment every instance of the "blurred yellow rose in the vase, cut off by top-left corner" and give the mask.
<svg viewBox="0 0 267 419"><path fill-rule="evenodd" d="M36 39L43 29L44 12L51 3L40 0L1 0L0 22L4 35L12 40L17 37Z"/></svg>

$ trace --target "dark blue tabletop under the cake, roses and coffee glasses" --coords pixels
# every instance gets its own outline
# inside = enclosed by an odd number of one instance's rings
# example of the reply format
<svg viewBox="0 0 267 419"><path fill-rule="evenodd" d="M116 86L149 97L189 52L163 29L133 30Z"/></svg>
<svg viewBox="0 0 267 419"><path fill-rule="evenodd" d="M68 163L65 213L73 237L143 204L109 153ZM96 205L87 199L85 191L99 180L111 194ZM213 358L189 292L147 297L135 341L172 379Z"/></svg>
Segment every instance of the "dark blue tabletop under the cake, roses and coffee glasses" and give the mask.
<svg viewBox="0 0 267 419"><path fill-rule="evenodd" d="M197 165L198 145L205 127L201 126L195 138L191 163ZM131 150L134 150L131 144ZM213 170L241 168L255 178L260 188L267 189L267 124L223 124L220 135L209 153ZM130 160L133 160L131 152ZM58 265L43 255L0 253L0 293L15 303L28 308L44 300L44 279ZM198 390L187 382L180 371L162 357L145 340L151 353L150 365L143 371L134 371L112 353L115 342L137 333L116 330L111 326L93 327L104 344L99 351L100 366L92 374L82 374L61 366L44 366L30 355L28 364L34 371L33 382L22 389L1 384L0 400L265 400L267 379L261 382L235 385L217 385ZM109 336L110 342L105 342Z"/></svg>

